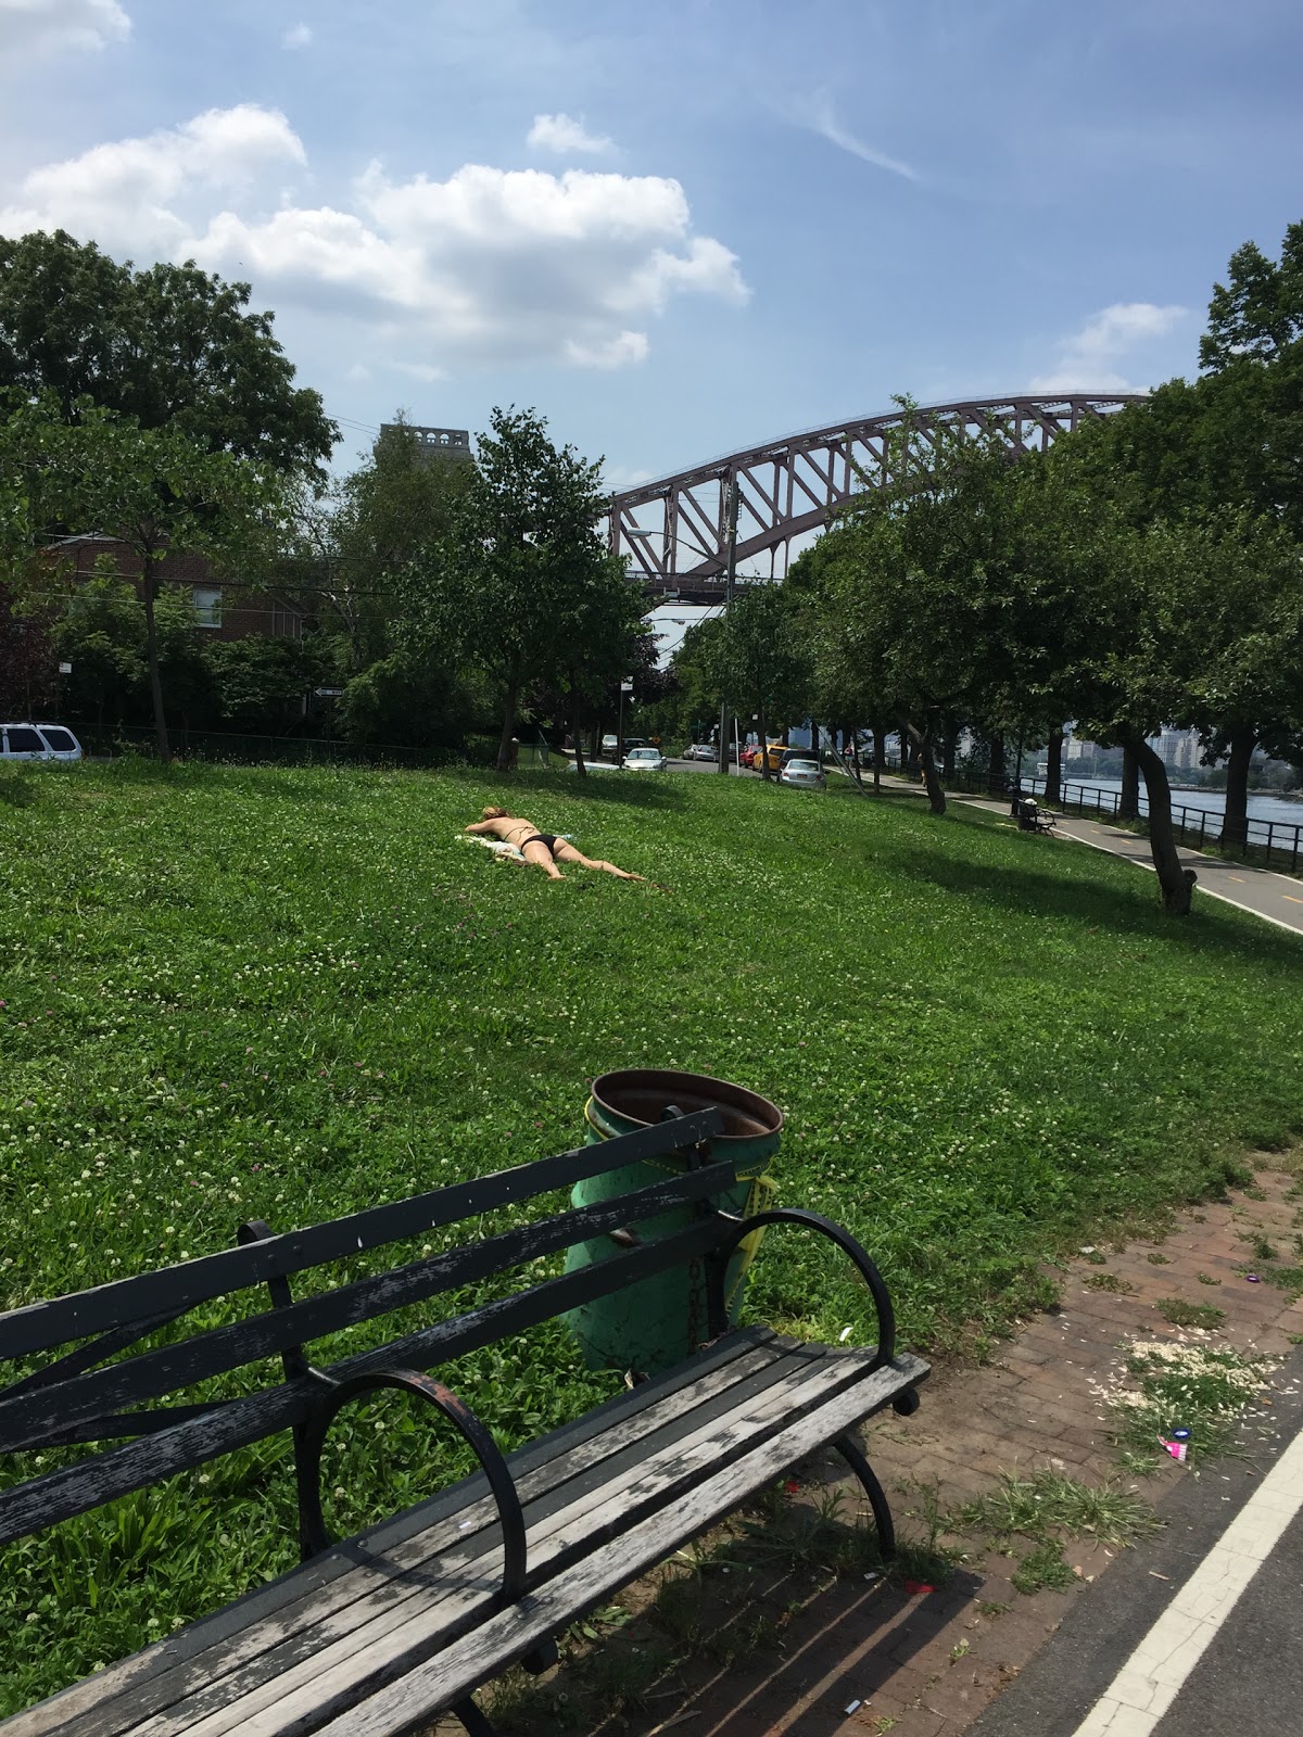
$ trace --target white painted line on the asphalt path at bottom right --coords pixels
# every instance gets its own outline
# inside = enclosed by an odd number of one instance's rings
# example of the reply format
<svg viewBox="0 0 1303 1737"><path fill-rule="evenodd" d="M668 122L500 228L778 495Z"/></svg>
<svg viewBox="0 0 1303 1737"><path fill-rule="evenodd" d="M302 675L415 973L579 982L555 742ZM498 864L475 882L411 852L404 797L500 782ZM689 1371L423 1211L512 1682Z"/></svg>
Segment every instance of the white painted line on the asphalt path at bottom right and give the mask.
<svg viewBox="0 0 1303 1737"><path fill-rule="evenodd" d="M1074 1737L1148 1737L1301 1508L1303 1435L1296 1435Z"/></svg>

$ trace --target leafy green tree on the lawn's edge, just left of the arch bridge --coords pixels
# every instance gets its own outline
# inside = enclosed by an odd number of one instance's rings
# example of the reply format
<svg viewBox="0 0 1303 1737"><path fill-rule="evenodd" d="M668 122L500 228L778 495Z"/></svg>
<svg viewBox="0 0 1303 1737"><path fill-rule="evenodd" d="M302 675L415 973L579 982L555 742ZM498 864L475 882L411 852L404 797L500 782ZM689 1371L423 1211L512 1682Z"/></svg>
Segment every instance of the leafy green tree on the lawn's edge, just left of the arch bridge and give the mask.
<svg viewBox="0 0 1303 1737"><path fill-rule="evenodd" d="M441 556L413 563L407 596L413 639L457 646L500 684L506 771L521 693L565 679L585 632L582 599L605 596L610 558L601 466L554 446L533 410L493 410L490 424Z"/></svg>

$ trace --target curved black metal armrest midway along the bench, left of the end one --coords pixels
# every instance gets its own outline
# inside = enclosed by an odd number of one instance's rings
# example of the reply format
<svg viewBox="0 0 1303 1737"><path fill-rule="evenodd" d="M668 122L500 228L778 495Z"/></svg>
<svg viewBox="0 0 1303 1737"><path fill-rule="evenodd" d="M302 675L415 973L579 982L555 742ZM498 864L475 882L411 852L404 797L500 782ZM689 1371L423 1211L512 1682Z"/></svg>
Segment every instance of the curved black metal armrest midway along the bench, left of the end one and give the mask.
<svg viewBox="0 0 1303 1737"><path fill-rule="evenodd" d="M445 1388L441 1381L419 1374L415 1369L377 1369L370 1374L349 1376L341 1381L321 1402L318 1410L301 1424L297 1435L297 1482L299 1482L299 1542L304 1562L330 1548L330 1534L321 1518L321 1447L335 1416L358 1393L372 1388L403 1388L427 1400L457 1428L466 1442L474 1449L476 1459L483 1466L488 1487L497 1503L497 1516L502 1527L502 1591L500 1605L516 1603L525 1591L525 1515L519 1496L497 1442L471 1407Z"/></svg>

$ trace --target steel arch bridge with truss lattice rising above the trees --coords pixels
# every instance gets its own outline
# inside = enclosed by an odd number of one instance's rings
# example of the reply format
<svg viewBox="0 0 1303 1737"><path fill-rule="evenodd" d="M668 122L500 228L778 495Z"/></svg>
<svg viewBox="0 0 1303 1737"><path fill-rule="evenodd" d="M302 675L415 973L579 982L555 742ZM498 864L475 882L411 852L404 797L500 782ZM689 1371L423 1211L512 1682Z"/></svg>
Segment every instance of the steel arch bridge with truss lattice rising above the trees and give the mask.
<svg viewBox="0 0 1303 1737"><path fill-rule="evenodd" d="M796 538L827 525L851 495L895 479L890 436L905 419L924 450L942 433L959 431L968 438L995 433L1015 452L1032 452L1070 434L1088 417L1108 415L1143 398L1143 393L971 398L789 434L612 495L610 547L629 558L631 578L652 594L719 603L728 570L730 485L738 497L737 561L752 563L738 577L782 578Z"/></svg>

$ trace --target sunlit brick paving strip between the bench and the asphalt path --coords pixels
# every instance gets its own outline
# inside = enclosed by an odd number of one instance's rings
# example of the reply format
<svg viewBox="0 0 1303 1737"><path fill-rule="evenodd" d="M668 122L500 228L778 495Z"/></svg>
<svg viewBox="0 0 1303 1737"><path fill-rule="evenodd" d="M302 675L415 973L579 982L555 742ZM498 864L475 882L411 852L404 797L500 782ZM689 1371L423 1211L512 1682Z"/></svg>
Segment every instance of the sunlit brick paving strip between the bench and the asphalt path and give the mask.
<svg viewBox="0 0 1303 1737"><path fill-rule="evenodd" d="M1263 1167L1254 1190L1263 1199L1234 1190L1221 1204L1180 1214L1166 1237L1101 1245L1096 1259L1074 1259L1056 1313L1025 1322L990 1367L942 1374L924 1391L914 1417L870 1428L869 1454L893 1504L917 1515L910 1490L924 1482L936 1485L943 1509L959 1508L971 1494L994 1489L1002 1471L1029 1475L1051 1468L1091 1483L1117 1480L1096 1390L1119 1369L1119 1344L1181 1336L1157 1311L1161 1298L1213 1303L1227 1317L1216 1331L1218 1343L1284 1357L1291 1336L1303 1334L1303 1303L1289 1304L1275 1285L1249 1284L1244 1270L1254 1270L1251 1238L1258 1235L1268 1237L1282 1261L1298 1263L1294 1238L1303 1214L1298 1200L1289 1199L1293 1186L1293 1176ZM1202 1284L1200 1273L1220 1284ZM1105 1275L1131 1289L1095 1289ZM1194 1470L1161 1463L1143 1480L1141 1492L1161 1508L1164 1496ZM910 1530L917 1530L917 1518L903 1520L903 1532ZM917 1605L943 1602L945 1622L907 1662L898 1645L869 1647L862 1669L851 1673L850 1699L862 1701L855 1714L829 1721L823 1709L823 1718L777 1720L763 1727L766 1737L830 1730L858 1737L888 1728L893 1737L957 1737L1044 1645L1072 1602L1089 1596L1089 1581L1115 1553L1101 1544L1068 1542L1065 1555L1081 1570L1081 1586L1023 1596L1009 1582L1016 1563L987 1551L962 1575L962 1596L945 1598L947 1588L916 1600ZM980 1605L1009 1608L983 1615ZM968 1648L961 1650L964 1643ZM886 1727L884 1720L895 1723ZM698 1727L693 1720L691 1730L711 1737L716 1727Z"/></svg>

